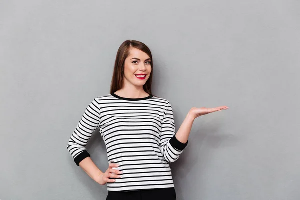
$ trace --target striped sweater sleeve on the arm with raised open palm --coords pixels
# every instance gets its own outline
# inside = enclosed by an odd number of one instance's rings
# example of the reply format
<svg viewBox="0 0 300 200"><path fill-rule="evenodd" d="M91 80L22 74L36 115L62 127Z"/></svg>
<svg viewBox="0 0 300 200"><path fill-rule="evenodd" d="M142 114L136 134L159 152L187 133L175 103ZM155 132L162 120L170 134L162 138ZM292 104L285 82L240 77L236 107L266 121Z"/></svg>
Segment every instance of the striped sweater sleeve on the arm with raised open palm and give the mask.
<svg viewBox="0 0 300 200"><path fill-rule="evenodd" d="M168 102L166 111L163 117L160 135L160 150L167 162L176 161L183 152L187 143L181 143L175 137L175 121L173 110L170 102Z"/></svg>

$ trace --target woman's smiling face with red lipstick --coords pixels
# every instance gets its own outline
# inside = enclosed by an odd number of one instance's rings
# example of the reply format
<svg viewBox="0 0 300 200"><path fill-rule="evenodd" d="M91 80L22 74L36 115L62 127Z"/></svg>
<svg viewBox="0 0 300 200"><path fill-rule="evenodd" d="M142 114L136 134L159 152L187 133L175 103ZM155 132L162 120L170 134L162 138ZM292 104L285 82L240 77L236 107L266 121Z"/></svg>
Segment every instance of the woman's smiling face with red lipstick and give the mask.
<svg viewBox="0 0 300 200"><path fill-rule="evenodd" d="M151 61L147 53L131 47L124 63L124 84L143 86L150 77Z"/></svg>

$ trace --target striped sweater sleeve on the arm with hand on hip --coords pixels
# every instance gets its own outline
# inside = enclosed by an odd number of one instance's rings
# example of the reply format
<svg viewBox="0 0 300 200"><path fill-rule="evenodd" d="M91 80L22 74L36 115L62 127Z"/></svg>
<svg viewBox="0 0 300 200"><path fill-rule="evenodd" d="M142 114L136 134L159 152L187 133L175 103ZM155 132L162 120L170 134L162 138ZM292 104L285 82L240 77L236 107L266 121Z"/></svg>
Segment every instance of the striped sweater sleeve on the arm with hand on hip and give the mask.
<svg viewBox="0 0 300 200"><path fill-rule="evenodd" d="M87 106L82 118L78 122L75 130L68 140L67 149L71 154L74 162L79 166L79 162L90 157L85 145L91 137L94 130L99 127L100 108L96 99Z"/></svg>

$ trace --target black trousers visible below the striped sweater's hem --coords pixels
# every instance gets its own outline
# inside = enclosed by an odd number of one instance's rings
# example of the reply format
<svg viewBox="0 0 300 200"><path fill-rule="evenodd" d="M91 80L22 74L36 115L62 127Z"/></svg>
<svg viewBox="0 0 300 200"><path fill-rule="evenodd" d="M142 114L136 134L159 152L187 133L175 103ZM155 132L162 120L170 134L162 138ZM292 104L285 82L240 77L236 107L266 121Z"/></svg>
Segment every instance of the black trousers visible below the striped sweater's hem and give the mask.
<svg viewBox="0 0 300 200"><path fill-rule="evenodd" d="M106 200L175 200L174 187L136 191L108 191Z"/></svg>

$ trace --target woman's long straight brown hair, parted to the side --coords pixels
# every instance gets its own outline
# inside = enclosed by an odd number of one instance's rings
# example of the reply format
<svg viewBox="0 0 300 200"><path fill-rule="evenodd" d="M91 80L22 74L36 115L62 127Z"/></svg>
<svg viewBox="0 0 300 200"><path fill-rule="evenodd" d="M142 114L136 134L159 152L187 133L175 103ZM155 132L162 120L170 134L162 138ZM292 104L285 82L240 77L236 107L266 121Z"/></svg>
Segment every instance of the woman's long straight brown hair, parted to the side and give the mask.
<svg viewBox="0 0 300 200"><path fill-rule="evenodd" d="M152 53L151 53L148 46L146 46L144 43L142 43L140 41L135 41L135 40L126 40L126 41L124 41L120 45L120 47L119 47L119 49L116 53L114 69L113 69L113 74L112 74L112 79L111 79L111 84L110 84L110 93L114 93L115 91L123 88L123 84L124 84L124 63L125 63L125 59L129 55L130 47L137 48L137 49L145 52L151 58L150 64L151 64L152 70L151 70L149 79L143 85L143 89L144 89L145 92L152 95L152 90L151 90L152 75L153 75Z"/></svg>

